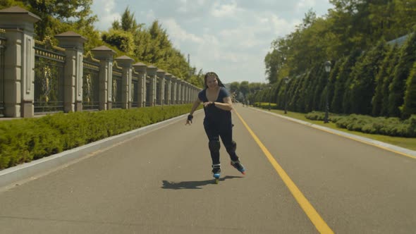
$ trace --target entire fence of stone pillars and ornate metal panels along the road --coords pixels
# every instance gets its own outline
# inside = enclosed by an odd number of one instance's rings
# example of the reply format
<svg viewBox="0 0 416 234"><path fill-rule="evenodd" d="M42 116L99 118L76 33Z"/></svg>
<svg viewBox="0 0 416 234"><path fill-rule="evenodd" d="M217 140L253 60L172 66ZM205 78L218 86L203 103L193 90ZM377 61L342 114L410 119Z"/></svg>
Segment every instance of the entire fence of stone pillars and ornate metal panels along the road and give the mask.
<svg viewBox="0 0 416 234"><path fill-rule="evenodd" d="M102 46L85 53L75 32L39 42L40 18L18 6L0 11L0 116L187 104L200 88Z"/></svg>

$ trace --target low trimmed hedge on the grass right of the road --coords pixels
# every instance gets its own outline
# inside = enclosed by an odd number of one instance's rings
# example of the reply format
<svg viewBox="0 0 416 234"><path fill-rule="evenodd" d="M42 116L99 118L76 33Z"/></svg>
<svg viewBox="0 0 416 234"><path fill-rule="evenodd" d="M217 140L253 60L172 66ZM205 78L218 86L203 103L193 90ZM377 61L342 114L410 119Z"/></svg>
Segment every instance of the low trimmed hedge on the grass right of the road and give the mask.
<svg viewBox="0 0 416 234"><path fill-rule="evenodd" d="M314 121L324 121L324 112L312 111L305 115ZM351 114L349 116L329 115L329 120L336 123L338 128L369 134L389 135L392 137L416 137L416 115L405 121L400 118L372 117Z"/></svg>

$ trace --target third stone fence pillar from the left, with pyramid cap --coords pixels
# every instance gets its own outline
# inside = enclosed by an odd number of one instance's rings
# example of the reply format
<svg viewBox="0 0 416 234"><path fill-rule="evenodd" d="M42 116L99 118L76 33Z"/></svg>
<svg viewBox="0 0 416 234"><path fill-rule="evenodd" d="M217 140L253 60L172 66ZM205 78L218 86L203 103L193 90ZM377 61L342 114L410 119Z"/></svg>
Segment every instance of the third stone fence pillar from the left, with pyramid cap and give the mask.
<svg viewBox="0 0 416 234"><path fill-rule="evenodd" d="M113 83L113 56L116 52L109 47L96 47L91 50L99 59L99 110L111 109L111 87Z"/></svg>

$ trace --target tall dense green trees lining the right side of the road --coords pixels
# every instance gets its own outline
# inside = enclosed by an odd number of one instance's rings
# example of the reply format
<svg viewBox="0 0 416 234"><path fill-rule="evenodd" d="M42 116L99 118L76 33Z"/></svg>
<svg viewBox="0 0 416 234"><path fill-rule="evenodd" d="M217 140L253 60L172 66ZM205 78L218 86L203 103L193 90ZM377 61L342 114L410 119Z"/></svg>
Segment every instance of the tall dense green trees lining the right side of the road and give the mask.
<svg viewBox="0 0 416 234"><path fill-rule="evenodd" d="M416 113L416 1L331 0L318 18L310 10L265 56L270 89L252 101L283 109L408 118ZM400 46L387 43L407 35ZM331 73L324 62L331 61ZM287 84L284 78L290 79Z"/></svg>

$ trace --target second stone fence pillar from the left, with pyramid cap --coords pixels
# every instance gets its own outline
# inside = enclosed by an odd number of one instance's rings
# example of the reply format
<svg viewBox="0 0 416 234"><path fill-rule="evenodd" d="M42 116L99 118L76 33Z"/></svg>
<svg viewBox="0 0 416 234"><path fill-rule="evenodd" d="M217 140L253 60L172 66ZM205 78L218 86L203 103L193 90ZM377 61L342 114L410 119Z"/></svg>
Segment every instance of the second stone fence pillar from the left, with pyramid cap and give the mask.
<svg viewBox="0 0 416 234"><path fill-rule="evenodd" d="M75 32L63 32L55 36L59 47L65 49L65 66L63 68L63 111L82 111L82 63L85 37Z"/></svg>

